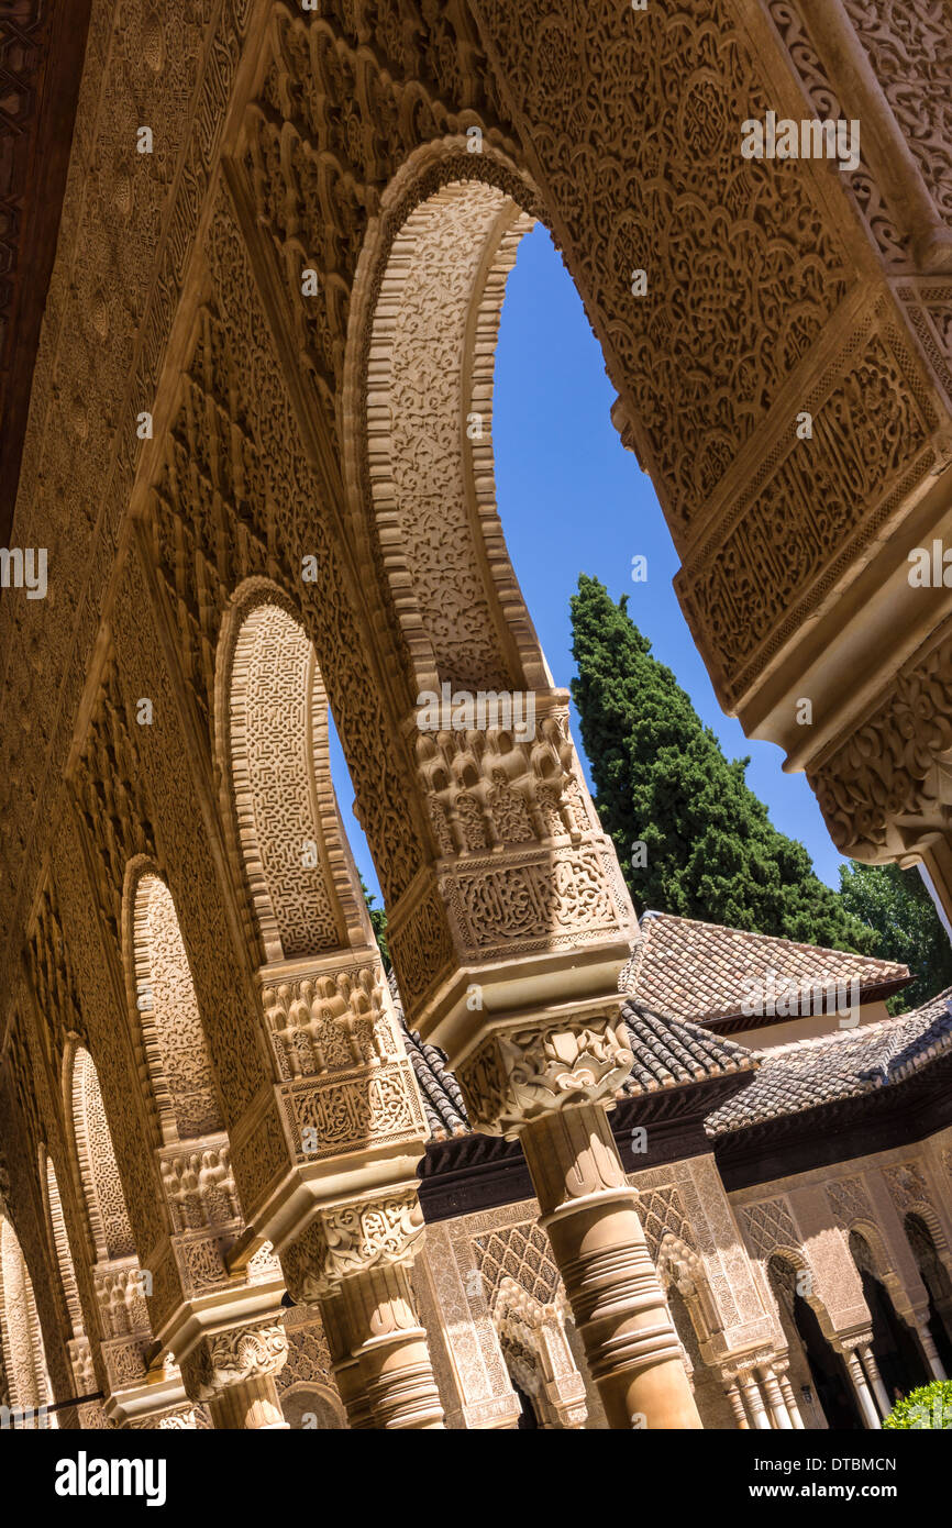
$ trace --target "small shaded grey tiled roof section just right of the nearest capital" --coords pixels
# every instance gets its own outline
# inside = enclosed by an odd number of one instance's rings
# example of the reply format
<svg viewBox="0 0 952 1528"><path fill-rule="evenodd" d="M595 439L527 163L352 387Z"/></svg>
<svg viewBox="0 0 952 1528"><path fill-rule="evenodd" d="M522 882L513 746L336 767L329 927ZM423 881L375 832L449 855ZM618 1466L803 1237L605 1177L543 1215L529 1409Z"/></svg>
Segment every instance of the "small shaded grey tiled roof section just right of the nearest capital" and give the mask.
<svg viewBox="0 0 952 1528"><path fill-rule="evenodd" d="M622 1013L634 1065L619 1097L636 1099L663 1088L683 1088L689 1082L756 1071L759 1065L756 1051L712 1034L689 1019L663 1019L642 1002L627 1002Z"/></svg>

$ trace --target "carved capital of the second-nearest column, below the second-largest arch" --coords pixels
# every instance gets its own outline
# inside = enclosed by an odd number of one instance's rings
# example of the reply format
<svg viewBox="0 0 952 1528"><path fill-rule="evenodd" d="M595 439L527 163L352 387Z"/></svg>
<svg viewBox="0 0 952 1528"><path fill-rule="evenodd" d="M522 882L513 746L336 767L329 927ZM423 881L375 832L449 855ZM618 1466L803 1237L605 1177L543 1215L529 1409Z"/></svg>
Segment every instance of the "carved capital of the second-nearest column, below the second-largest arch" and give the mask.
<svg viewBox="0 0 952 1528"><path fill-rule="evenodd" d="M410 1267L422 1238L416 1184L333 1206L281 1253L287 1288L300 1303L321 1300L358 1274Z"/></svg>

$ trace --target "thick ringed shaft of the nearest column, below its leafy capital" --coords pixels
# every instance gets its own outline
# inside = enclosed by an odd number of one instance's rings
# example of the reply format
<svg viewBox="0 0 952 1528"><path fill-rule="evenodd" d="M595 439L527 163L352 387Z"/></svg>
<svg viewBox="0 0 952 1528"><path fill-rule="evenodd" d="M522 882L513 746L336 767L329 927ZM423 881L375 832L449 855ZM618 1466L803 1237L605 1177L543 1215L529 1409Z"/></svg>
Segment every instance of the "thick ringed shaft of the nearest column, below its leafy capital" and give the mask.
<svg viewBox="0 0 952 1528"><path fill-rule="evenodd" d="M605 1111L542 1115L521 1143L608 1426L700 1427Z"/></svg>

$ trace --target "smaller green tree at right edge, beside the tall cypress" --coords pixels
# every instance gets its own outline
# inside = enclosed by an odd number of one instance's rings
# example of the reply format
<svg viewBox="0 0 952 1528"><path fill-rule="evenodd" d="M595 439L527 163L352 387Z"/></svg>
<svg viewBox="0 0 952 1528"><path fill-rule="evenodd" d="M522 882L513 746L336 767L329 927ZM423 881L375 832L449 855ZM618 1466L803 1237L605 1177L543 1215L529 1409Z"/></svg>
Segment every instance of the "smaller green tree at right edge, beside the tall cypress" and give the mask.
<svg viewBox="0 0 952 1528"><path fill-rule="evenodd" d="M889 1001L906 1013L952 987L952 944L917 869L899 865L840 865L844 906L876 931L876 953L915 972L915 981Z"/></svg>

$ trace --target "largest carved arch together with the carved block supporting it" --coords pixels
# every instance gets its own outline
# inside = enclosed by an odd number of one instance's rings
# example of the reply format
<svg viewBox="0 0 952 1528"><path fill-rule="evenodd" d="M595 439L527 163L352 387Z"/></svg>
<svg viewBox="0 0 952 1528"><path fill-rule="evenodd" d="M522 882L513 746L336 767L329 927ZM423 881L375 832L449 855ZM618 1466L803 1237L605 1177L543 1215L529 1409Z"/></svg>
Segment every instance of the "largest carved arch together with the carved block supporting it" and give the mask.
<svg viewBox="0 0 952 1528"><path fill-rule="evenodd" d="M454 1062L492 1027L466 1005L477 966L491 1013L526 1002L541 955L549 990L608 1004L637 937L497 504L500 316L539 212L492 145L422 147L382 193L348 319L350 526L428 825L429 882L380 883L408 1016Z"/></svg>

